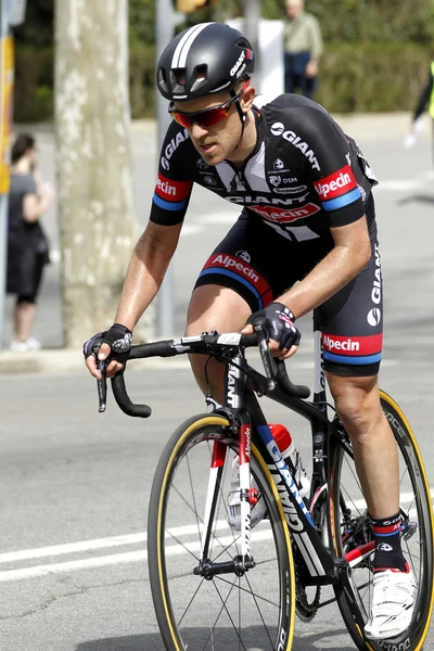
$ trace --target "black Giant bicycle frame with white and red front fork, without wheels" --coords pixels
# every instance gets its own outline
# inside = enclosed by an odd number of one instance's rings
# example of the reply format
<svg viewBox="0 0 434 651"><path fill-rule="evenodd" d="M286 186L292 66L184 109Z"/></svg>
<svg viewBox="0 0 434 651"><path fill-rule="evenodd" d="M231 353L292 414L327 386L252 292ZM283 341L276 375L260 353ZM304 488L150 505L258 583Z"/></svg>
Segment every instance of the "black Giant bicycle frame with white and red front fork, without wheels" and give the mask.
<svg viewBox="0 0 434 651"><path fill-rule="evenodd" d="M317 335L316 342L319 342ZM318 345L316 347L319 350ZM330 532L326 533L324 538L321 538L321 535L318 533L312 516L298 493L291 470L286 465L276 445L258 400L247 381L246 374L243 372L245 365L244 356L239 355L234 357L233 362L227 365L225 376L225 412L233 414L239 427L242 557L246 560L251 558L250 447L252 437L252 441L260 450L269 469L273 469L271 470L271 474L281 497L288 526L292 534L292 538L306 563L311 585L337 583L337 570L342 565L342 561L337 559L334 551L330 549ZM321 409L316 405L316 403L326 400L324 388L317 391L317 387L324 387L320 357L318 357L316 367L318 382L316 383L314 403L305 401L302 398L289 397L279 388L269 393L268 397L309 420L314 441L314 481L318 490L321 490L321 487L327 484L328 450L324 450L324 445L327 445L330 438L330 433L328 432L330 422L326 413L326 407ZM322 376L322 380L320 375ZM225 447L221 446L221 444L219 445L220 447ZM217 467L217 459L219 460L218 463L220 467L222 467L222 452L216 450L218 444L214 444L214 446L215 450L212 467ZM215 478L217 480L217 477ZM209 488L213 492L213 484ZM208 510L207 513L205 513L205 527L209 522L207 520L209 515L210 511ZM206 547L204 551L207 551Z"/></svg>

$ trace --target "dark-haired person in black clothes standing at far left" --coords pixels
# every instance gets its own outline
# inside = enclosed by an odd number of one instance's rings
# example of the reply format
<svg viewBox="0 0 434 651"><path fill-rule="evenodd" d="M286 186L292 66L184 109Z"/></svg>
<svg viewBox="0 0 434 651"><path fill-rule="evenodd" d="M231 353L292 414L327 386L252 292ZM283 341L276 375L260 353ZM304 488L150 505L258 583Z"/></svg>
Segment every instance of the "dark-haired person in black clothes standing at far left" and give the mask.
<svg viewBox="0 0 434 651"><path fill-rule="evenodd" d="M54 192L36 171L35 138L21 133L12 146L8 228L8 294L16 295L11 350L40 348L31 336L36 301L43 267L50 261L49 243L40 217Z"/></svg>

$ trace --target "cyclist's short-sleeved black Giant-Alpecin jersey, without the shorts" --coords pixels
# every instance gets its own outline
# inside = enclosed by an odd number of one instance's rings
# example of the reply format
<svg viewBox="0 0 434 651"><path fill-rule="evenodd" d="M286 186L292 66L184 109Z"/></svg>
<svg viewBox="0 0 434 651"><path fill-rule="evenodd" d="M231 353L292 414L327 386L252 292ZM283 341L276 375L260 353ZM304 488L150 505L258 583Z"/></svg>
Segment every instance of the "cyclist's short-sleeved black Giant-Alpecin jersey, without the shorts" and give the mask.
<svg viewBox="0 0 434 651"><path fill-rule="evenodd" d="M193 182L260 218L279 234L299 242L330 238L330 228L356 221L376 179L356 142L311 100L282 94L256 98L255 150L239 167L210 166L188 131L173 123L163 144L151 220L183 220ZM371 240L373 217L368 220Z"/></svg>

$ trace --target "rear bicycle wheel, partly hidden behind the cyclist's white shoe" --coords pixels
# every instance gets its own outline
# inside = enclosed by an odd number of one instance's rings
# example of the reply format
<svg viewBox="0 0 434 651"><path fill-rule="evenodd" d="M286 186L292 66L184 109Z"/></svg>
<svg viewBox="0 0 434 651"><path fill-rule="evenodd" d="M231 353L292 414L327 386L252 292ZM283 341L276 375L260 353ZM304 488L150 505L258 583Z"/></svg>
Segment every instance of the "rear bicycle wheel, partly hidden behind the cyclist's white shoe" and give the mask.
<svg viewBox="0 0 434 651"><path fill-rule="evenodd" d="M430 627L434 603L434 520L432 498L419 447L406 417L390 395L380 392L380 397L383 411L398 446L401 510L410 514L410 522L414 522L414 518L417 519L414 531L409 539L406 539L406 534L401 538L403 551L418 582L414 612L410 627L400 636L388 640L368 640L365 638L363 631L355 623L346 591L340 590L337 586L335 587L335 595L345 625L358 649L361 651L419 651L422 649ZM355 493L356 485L361 495L358 480L355 480L355 471L352 471L353 478L349 480L353 482L352 488L348 488L348 485L344 485L344 481L348 482L349 477L344 467L350 468L350 465L354 465L354 462L349 459L349 455L342 446L339 446L335 449L331 468L332 537L335 551L339 556L350 551L352 546L356 544L363 544L363 537L366 540L370 539L370 525L366 503L363 505L363 500L358 503L352 498L352 493ZM344 497L346 505L353 510L350 518L346 516L343 519L343 509L340 506L342 497ZM410 535L411 531L412 524L408 527L407 535ZM359 566L349 571L356 600L361 604L359 612L362 614L365 621L370 612L370 597L372 595L372 590L370 589L372 582L371 562L372 554L370 554L368 560L361 562Z"/></svg>

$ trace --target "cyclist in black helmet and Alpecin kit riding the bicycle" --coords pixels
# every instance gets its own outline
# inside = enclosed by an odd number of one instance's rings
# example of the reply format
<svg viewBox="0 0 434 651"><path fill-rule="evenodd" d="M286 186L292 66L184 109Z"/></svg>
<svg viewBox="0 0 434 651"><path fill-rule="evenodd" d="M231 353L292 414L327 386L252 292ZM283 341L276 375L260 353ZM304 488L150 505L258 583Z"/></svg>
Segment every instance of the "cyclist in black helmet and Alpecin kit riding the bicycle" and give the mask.
<svg viewBox="0 0 434 651"><path fill-rule="evenodd" d="M372 187L375 177L352 138L326 110L295 94L255 97L254 54L243 35L219 23L179 34L157 65L157 88L174 118L163 144L149 224L126 276L115 323L85 344L100 378L122 370L132 330L162 284L196 182L241 215L195 284L187 334L253 331L266 318L270 349L298 348L296 319L318 309L324 368L337 413L353 441L375 540L371 638L409 626L414 579L400 548L397 450L379 399L382 276ZM247 324L246 324L247 323ZM204 359L192 370L205 391ZM221 399L222 365L207 366Z"/></svg>

